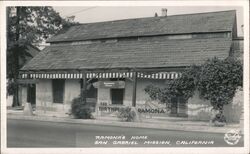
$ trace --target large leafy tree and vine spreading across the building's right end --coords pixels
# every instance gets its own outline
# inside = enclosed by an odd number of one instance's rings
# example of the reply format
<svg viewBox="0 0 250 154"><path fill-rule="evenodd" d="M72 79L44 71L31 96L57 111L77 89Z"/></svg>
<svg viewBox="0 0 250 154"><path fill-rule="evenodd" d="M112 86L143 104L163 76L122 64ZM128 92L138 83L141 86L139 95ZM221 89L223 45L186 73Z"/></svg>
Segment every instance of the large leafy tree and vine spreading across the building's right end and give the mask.
<svg viewBox="0 0 250 154"><path fill-rule="evenodd" d="M213 58L200 66L187 68L179 79L170 80L164 88L147 86L144 90L153 100L170 103L173 97L188 99L198 90L200 97L211 102L214 109L232 101L238 86L242 86L242 64L233 59Z"/></svg>

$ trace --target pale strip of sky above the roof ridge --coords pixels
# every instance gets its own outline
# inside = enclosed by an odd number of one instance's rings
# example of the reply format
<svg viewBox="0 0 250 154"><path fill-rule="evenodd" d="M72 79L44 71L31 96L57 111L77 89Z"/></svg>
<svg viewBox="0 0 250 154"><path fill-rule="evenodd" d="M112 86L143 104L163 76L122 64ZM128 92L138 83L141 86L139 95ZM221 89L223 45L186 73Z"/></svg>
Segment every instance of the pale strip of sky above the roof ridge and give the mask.
<svg viewBox="0 0 250 154"><path fill-rule="evenodd" d="M59 12L62 17L69 17L74 15L75 21L79 23L153 17L155 13L161 16L162 8L166 8L168 10L167 14L169 16L176 14L236 10L238 35L243 35L241 29L241 25L243 25L243 8L239 6L54 7L54 9Z"/></svg>

